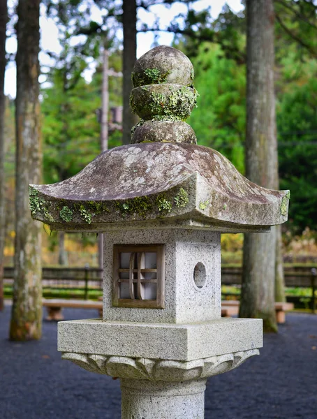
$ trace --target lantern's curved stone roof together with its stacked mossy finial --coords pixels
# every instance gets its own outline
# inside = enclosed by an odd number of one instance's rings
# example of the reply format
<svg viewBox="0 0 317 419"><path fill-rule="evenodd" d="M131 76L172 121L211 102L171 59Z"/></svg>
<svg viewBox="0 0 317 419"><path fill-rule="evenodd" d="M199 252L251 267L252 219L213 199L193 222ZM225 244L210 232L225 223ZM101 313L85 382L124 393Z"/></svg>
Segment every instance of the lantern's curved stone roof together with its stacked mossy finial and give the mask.
<svg viewBox="0 0 317 419"><path fill-rule="evenodd" d="M54 230L205 228L261 231L287 219L289 191L243 177L226 157L196 145L184 122L196 105L191 61L156 47L133 71L131 145L100 154L77 175L30 185L34 219Z"/></svg>

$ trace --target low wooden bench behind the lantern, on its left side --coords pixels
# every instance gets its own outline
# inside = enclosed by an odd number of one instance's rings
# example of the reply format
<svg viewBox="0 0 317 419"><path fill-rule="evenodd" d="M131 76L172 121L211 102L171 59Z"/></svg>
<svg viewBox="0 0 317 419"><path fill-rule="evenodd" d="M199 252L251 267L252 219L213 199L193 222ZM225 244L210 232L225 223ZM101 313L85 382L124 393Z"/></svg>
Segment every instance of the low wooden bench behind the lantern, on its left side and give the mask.
<svg viewBox="0 0 317 419"><path fill-rule="evenodd" d="M64 320L64 316L61 309L64 307L70 307L75 309L97 309L99 315L102 317L103 302L102 301L89 301L89 300L42 300L43 307L47 307L47 318L48 321L60 321Z"/></svg>

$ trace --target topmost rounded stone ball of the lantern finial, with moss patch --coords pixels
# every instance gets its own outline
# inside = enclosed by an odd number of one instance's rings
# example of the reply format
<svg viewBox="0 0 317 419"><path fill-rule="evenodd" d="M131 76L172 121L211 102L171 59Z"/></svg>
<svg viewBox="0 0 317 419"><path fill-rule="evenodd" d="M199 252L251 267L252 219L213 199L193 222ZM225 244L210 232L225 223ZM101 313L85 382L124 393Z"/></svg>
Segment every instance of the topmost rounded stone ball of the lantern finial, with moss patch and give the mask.
<svg viewBox="0 0 317 419"><path fill-rule="evenodd" d="M132 73L133 87L147 84L193 85L193 64L185 54L167 45L160 45L142 55Z"/></svg>

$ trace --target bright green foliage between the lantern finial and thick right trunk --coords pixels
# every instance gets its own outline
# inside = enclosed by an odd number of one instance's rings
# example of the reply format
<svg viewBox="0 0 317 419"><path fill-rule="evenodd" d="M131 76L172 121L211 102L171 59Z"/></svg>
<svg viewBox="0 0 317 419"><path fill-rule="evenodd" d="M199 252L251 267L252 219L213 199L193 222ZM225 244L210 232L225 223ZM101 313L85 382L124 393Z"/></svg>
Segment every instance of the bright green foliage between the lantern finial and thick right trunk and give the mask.
<svg viewBox="0 0 317 419"><path fill-rule="evenodd" d="M219 150L244 172L245 67L223 57L219 45L203 43L192 59L200 97L188 123L199 145Z"/></svg>

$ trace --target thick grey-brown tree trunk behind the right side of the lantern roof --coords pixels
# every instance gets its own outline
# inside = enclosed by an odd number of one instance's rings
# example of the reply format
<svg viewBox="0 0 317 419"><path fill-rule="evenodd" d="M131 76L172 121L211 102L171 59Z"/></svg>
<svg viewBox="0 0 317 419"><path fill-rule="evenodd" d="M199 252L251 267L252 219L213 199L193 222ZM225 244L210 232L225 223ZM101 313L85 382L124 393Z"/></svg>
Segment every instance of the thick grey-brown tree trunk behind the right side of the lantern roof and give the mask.
<svg viewBox="0 0 317 419"><path fill-rule="evenodd" d="M279 186L274 97L272 0L246 1L246 177L270 189ZM263 318L277 331L274 278L277 231L244 235L240 317Z"/></svg>

